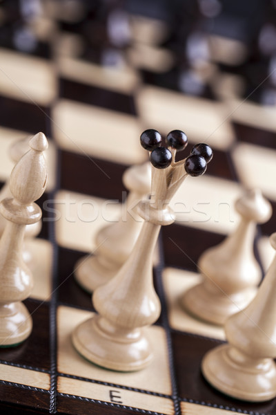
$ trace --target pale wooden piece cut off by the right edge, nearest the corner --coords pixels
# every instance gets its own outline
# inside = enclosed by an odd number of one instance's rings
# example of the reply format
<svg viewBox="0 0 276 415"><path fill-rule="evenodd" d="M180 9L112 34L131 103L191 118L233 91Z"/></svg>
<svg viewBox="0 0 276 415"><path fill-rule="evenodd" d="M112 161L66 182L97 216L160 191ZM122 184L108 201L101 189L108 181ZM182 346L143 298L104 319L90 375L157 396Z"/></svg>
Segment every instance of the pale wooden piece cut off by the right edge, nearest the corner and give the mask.
<svg viewBox="0 0 276 415"><path fill-rule="evenodd" d="M270 237L276 250L276 233ZM228 318L228 344L209 351L205 378L233 398L261 402L276 396L276 256L253 301Z"/></svg>

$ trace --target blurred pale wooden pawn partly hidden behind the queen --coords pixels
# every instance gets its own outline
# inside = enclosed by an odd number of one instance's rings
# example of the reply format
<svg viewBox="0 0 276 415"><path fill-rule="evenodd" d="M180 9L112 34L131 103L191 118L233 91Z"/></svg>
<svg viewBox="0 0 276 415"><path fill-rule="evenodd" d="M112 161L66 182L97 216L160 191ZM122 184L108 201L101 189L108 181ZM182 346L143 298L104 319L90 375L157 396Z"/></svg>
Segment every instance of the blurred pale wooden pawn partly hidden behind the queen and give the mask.
<svg viewBox="0 0 276 415"><path fill-rule="evenodd" d="M96 255L86 255L75 266L77 282L89 293L114 277L135 246L143 221L132 216L131 210L150 193L150 163L127 169L123 182L130 191L123 208L126 217L102 228L96 237Z"/></svg>

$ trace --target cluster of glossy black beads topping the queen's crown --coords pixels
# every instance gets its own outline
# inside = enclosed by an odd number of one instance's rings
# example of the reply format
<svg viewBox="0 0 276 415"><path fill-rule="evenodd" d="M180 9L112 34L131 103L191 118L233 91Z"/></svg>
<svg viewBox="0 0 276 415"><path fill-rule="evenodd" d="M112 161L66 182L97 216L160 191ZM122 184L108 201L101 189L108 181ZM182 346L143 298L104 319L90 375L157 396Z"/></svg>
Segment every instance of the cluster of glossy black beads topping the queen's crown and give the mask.
<svg viewBox="0 0 276 415"><path fill-rule="evenodd" d="M171 163L174 165L184 163L186 173L190 176L201 176L206 172L207 163L213 158L212 149L204 144L196 144L190 151L190 156L179 162L175 162L176 151L184 150L188 144L188 138L183 131L173 130L166 136L166 147L161 147L161 135L155 129L147 129L141 133L140 142L144 149L150 151L150 162L157 169L166 169Z"/></svg>

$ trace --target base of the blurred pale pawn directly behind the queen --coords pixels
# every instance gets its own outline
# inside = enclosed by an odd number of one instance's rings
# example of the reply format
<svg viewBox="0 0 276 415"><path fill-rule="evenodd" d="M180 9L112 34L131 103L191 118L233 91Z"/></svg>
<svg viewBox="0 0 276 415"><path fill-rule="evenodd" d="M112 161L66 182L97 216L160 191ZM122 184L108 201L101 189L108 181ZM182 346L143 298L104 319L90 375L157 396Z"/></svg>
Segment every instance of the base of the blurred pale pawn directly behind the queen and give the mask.
<svg viewBox="0 0 276 415"><path fill-rule="evenodd" d="M77 261L75 279L83 290L92 293L96 288L110 281L116 271L117 268L110 270L103 266L97 257L87 255Z"/></svg>

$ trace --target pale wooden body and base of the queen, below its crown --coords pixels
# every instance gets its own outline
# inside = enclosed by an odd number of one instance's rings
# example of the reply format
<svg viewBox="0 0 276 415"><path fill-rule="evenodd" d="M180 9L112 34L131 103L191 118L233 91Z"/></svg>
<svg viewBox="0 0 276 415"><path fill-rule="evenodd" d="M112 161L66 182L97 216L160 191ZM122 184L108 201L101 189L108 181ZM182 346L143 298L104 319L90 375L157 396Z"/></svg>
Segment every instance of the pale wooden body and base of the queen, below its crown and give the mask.
<svg viewBox="0 0 276 415"><path fill-rule="evenodd" d="M141 201L139 207L142 217L147 212L148 221L130 257L110 282L95 290L92 299L99 315L78 326L72 337L85 358L120 371L143 369L152 359L146 326L160 313L152 282L152 255L161 224L173 221L172 215L167 219L160 210L150 208L150 201Z"/></svg>

